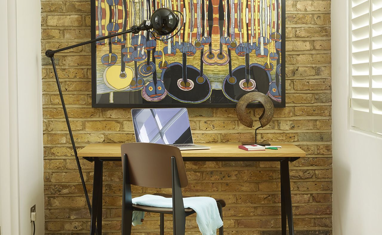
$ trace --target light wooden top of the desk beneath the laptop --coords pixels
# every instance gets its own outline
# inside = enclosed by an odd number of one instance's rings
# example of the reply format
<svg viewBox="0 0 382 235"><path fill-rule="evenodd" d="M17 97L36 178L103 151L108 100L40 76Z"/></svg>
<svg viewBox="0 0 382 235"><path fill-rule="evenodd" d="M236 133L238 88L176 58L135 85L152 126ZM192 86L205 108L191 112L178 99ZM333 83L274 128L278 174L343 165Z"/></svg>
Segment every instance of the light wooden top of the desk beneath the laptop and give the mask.
<svg viewBox="0 0 382 235"><path fill-rule="evenodd" d="M305 157L305 152L294 144L279 144L273 143L272 145L280 145L281 149L272 150L266 149L265 151L246 151L239 149L240 143L208 143L200 144L211 147L211 149L202 150L182 150L183 159L189 157L230 157L230 158L256 158L256 157L292 157L299 158ZM89 144L83 149L78 151L79 157L102 157L102 158L115 158L121 157L121 144Z"/></svg>

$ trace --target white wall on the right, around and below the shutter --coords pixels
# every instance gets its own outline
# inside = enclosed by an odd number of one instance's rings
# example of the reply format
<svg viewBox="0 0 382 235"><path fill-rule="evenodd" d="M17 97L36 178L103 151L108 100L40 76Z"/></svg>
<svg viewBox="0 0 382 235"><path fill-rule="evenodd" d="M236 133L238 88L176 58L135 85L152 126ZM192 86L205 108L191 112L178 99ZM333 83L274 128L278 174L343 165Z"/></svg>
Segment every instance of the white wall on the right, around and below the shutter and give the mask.
<svg viewBox="0 0 382 235"><path fill-rule="evenodd" d="M382 139L348 129L348 0L332 0L333 235L382 234Z"/></svg>

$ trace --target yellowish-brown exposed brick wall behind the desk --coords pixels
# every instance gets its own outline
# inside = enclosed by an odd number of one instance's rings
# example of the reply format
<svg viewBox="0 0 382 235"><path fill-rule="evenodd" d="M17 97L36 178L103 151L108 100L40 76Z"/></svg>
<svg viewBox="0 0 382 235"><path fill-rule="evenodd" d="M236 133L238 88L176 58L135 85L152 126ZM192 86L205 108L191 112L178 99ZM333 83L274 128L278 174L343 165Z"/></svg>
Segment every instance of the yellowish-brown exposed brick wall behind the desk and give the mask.
<svg viewBox="0 0 382 235"><path fill-rule="evenodd" d="M90 38L90 1L43 0L42 52ZM286 1L286 108L261 130L262 141L294 142L307 157L291 164L296 234L329 235L332 229L330 1ZM58 75L81 149L94 142L133 141L129 109L91 107L89 45L59 53ZM45 233L87 234L89 212L71 150L50 61L42 59ZM259 116L261 110L249 110ZM197 142L251 141L234 109L189 109ZM93 165L81 160L89 192ZM120 234L121 165L105 163L104 234ZM281 234L278 163L189 162L187 195L224 198L228 235ZM136 195L157 192L134 187ZM163 190L168 192L168 190ZM252 192L256 192L253 195ZM171 234L170 217L166 218ZM147 215L134 234L159 234L159 217ZM194 217L187 234L198 234ZM277 231L277 232L275 232Z"/></svg>

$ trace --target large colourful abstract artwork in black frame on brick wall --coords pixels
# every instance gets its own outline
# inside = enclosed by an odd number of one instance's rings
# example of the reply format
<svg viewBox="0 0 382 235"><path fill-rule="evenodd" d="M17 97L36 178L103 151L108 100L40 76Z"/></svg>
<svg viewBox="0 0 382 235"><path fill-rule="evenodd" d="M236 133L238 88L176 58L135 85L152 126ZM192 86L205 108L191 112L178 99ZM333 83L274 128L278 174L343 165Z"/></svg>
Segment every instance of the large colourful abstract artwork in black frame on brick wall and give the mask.
<svg viewBox="0 0 382 235"><path fill-rule="evenodd" d="M255 91L285 107L285 0L91 0L91 6L92 38L139 25L161 7L180 11L184 23L164 41L142 31L93 43L93 107L235 107Z"/></svg>

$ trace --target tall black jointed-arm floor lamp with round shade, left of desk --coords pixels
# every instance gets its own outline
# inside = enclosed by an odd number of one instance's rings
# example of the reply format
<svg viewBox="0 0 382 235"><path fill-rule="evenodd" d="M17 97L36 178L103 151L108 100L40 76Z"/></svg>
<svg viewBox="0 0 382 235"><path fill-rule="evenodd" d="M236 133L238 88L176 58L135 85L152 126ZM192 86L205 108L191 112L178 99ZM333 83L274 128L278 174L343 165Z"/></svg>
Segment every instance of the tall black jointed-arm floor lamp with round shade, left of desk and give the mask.
<svg viewBox="0 0 382 235"><path fill-rule="evenodd" d="M181 12L179 12L179 11L176 11L176 12L181 14ZM181 14L181 16L183 18L182 14ZM139 26L133 26L133 27L131 27L131 29L128 29L126 31L119 32L117 34L108 35L108 36L105 36L105 37L95 38L95 39L92 39L92 40L89 40L89 41L86 41L86 42L81 42L81 43L78 43L78 44L75 44L75 45L72 45L72 46L66 46L64 48L57 49L57 50L47 50L47 51L45 51L45 56L49 57L50 61L52 61L52 67L53 67L54 76L55 76L56 82L57 82L58 93L60 93L62 109L64 111L64 116L65 116L65 120L66 120L66 125L68 126L70 141L71 141L71 144L73 146L74 157L76 158L76 163L77 163L77 167L78 167L78 171L79 171L79 176L81 177L82 187L84 189L86 203L87 203L87 207L89 208L89 212L90 213L92 211L92 207L91 207L91 204L90 204L89 195L87 194L84 176L83 176L81 165L79 163L79 159L78 159L78 155L77 155L76 145L74 144L73 133L72 133L71 128L70 128L68 113L66 112L66 107L65 107L65 102L64 102L63 95L62 95L60 81L58 80L56 64L55 64L55 61L54 61L54 55L57 52L61 52L61 51L69 50L69 49L72 49L72 48L76 48L78 46L83 46L83 45L86 45L86 44L89 44L89 43L94 43L94 42L97 42L97 41L105 40L105 39L112 38L112 37L115 37L115 36L118 36L118 35L128 34L128 33L138 34L141 30L147 30L149 32L151 32L150 30L154 30L154 32L156 34L160 35L160 36L168 35L168 34L171 34L176 29L176 27L178 26L178 23L179 23L179 17L178 17L177 14L175 14L174 11L172 11L172 10L170 10L168 8L159 8L159 9L155 10L152 13L150 20L144 20ZM183 23L182 23L182 26L183 26ZM180 27L180 29L181 28L182 27ZM161 39L157 38L157 40L161 40ZM97 230L95 230L95 232L97 233Z"/></svg>

